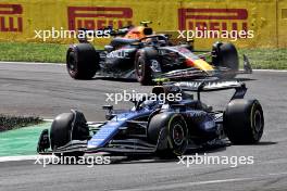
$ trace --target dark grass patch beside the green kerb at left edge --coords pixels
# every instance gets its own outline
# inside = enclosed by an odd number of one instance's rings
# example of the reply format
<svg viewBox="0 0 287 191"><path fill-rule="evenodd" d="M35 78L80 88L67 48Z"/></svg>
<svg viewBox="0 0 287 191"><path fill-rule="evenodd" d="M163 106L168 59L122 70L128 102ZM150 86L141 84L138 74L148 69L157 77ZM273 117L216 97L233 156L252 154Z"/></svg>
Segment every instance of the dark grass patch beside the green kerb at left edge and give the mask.
<svg viewBox="0 0 287 191"><path fill-rule="evenodd" d="M0 132L11 129L17 129L36 124L40 124L43 120L36 116L10 116L0 114Z"/></svg>

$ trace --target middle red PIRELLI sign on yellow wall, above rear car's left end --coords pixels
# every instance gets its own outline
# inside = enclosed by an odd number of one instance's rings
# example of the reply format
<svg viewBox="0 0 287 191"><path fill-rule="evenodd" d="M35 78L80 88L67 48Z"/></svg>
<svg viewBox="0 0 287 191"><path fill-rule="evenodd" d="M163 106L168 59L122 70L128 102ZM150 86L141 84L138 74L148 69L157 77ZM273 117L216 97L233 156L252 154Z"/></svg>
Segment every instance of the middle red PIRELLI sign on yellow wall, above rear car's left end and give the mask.
<svg viewBox="0 0 287 191"><path fill-rule="evenodd" d="M68 29L100 29L108 26L121 28L132 25L133 10L130 8L109 7L68 7Z"/></svg>

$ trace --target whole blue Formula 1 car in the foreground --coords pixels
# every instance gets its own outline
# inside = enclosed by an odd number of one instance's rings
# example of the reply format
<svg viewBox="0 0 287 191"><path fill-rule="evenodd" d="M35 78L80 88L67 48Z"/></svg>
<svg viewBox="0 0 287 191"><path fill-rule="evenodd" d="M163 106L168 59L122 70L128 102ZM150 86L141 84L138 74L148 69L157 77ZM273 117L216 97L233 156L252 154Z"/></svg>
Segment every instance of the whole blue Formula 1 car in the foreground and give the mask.
<svg viewBox="0 0 287 191"><path fill-rule="evenodd" d="M200 92L226 89L235 89L235 93L224 111L213 111L200 100ZM63 113L50 130L41 132L38 153L174 157L189 148L226 138L234 144L257 143L263 133L263 111L258 100L244 99L246 91L245 84L238 81L174 82L153 87L157 97L133 101L130 110L104 106L107 122L88 124L80 112ZM160 99L178 93L182 99L175 101Z"/></svg>

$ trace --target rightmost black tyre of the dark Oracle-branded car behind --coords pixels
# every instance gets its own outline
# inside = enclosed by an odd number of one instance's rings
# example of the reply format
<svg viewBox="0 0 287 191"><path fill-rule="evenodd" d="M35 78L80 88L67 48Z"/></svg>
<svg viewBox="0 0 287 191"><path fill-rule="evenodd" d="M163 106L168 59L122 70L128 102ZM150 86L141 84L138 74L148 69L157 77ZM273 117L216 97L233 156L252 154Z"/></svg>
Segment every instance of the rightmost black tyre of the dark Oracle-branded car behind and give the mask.
<svg viewBox="0 0 287 191"><path fill-rule="evenodd" d="M214 43L212 47L212 64L230 69L229 74L222 76L223 78L235 77L235 73L239 69L239 59L235 46L233 43Z"/></svg>

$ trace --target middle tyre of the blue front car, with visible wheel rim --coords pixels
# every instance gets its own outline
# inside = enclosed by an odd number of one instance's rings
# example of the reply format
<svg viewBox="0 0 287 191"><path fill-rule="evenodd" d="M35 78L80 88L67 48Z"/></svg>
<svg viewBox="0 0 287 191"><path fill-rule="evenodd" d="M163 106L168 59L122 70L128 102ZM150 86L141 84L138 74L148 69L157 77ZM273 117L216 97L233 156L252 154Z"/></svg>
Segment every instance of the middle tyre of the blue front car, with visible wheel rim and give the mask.
<svg viewBox="0 0 287 191"><path fill-rule="evenodd" d="M185 153L188 145L188 128L185 118L180 114L155 115L151 118L148 127L148 138L157 143L161 130L165 130L167 145L164 150L157 151L162 158L180 156Z"/></svg>

